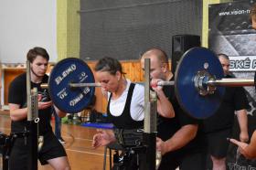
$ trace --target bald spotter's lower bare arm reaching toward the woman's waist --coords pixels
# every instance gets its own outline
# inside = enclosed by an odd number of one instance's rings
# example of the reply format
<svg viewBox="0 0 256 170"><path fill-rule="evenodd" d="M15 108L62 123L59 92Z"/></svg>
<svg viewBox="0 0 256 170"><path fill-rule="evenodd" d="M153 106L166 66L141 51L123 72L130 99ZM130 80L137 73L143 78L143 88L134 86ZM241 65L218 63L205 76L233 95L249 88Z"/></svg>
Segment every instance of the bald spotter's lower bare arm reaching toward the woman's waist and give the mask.
<svg viewBox="0 0 256 170"><path fill-rule="evenodd" d="M157 139L157 150L161 151L162 154L176 151L187 145L197 135L197 124L187 124L182 126L170 139L163 142Z"/></svg>

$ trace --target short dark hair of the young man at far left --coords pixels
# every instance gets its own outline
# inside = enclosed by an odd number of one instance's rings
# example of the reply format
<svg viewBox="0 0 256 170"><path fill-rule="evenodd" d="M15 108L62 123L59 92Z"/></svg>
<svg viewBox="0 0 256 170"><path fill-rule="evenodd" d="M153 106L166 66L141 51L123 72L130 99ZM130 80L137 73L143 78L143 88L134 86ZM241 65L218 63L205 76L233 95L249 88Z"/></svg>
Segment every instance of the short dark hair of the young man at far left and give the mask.
<svg viewBox="0 0 256 170"><path fill-rule="evenodd" d="M35 58L37 58L37 56L41 56L43 58L46 58L47 60L49 59L48 57L48 51L45 48L32 48L29 49L29 51L27 52L27 60L29 60L30 62L33 62Z"/></svg>

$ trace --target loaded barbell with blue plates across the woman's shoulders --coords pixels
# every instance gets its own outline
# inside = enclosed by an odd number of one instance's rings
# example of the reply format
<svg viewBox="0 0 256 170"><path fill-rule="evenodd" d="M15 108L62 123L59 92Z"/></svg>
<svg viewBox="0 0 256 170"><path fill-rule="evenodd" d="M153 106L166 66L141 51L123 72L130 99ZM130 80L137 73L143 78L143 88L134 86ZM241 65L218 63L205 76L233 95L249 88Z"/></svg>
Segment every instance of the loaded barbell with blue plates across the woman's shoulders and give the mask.
<svg viewBox="0 0 256 170"><path fill-rule="evenodd" d="M216 54L208 48L190 48L180 58L175 81L158 81L157 86L175 86L177 101L185 112L205 119L219 109L225 86L254 86L254 80L223 79L224 73ZM48 88L53 103L63 112L83 111L91 104L95 87L90 67L79 58L60 60L52 69Z"/></svg>

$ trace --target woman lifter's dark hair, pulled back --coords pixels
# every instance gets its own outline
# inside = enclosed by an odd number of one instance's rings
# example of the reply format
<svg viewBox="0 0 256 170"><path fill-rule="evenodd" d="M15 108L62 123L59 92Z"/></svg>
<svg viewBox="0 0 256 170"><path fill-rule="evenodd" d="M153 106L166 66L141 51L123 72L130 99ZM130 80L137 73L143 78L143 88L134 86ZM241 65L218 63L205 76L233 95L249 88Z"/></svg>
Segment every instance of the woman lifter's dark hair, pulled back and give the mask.
<svg viewBox="0 0 256 170"><path fill-rule="evenodd" d="M123 72L121 63L117 59L109 58L109 57L101 58L97 62L94 70L95 71L108 71L112 75L115 75L115 73L117 71L120 71L121 74L125 74Z"/></svg>

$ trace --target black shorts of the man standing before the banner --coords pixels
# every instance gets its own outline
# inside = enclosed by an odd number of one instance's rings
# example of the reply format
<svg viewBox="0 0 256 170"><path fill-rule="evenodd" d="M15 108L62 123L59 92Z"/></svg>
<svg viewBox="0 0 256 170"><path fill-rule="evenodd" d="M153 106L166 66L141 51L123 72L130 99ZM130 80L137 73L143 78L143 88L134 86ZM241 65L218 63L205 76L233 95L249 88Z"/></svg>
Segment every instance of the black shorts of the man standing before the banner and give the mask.
<svg viewBox="0 0 256 170"><path fill-rule="evenodd" d="M208 153L217 158L224 158L227 155L232 129L224 129L214 133L207 133Z"/></svg>

